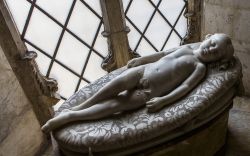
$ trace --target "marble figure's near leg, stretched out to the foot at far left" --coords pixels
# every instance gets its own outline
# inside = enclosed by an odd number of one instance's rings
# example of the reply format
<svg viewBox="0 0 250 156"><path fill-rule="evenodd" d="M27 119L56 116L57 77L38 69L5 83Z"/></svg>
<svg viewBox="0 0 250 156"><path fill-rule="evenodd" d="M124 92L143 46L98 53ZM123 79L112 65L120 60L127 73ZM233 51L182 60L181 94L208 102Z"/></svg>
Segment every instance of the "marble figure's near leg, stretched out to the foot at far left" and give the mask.
<svg viewBox="0 0 250 156"><path fill-rule="evenodd" d="M133 91L129 94L118 96L114 99L109 99L101 104L95 104L89 108L80 111L69 111L50 119L43 127L44 132L54 130L64 124L80 121L80 120L95 120L100 119L116 112L136 109L145 104L145 95L138 91Z"/></svg>

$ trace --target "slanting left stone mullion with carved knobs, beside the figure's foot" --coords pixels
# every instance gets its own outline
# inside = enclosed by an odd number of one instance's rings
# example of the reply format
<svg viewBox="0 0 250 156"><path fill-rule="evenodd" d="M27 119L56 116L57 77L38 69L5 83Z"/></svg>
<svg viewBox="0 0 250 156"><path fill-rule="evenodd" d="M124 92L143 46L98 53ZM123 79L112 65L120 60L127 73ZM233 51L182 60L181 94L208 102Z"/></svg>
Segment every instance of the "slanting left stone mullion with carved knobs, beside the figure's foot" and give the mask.
<svg viewBox="0 0 250 156"><path fill-rule="evenodd" d="M37 54L27 51L5 1L0 1L0 45L43 125L53 115L51 105L58 101L57 82L40 73L35 61Z"/></svg>

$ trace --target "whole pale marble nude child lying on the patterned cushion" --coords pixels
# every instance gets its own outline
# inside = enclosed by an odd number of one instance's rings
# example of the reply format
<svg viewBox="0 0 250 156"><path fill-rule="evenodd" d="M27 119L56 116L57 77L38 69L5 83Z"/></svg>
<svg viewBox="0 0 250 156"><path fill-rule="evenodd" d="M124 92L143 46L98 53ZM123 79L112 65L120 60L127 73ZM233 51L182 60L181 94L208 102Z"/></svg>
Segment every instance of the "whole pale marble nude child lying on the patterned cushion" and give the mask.
<svg viewBox="0 0 250 156"><path fill-rule="evenodd" d="M227 35L214 34L195 48L185 45L174 52L132 59L122 74L85 102L50 119L42 130L49 132L69 122L100 119L145 105L148 112L156 112L194 89L206 75L206 64L228 62L233 51Z"/></svg>

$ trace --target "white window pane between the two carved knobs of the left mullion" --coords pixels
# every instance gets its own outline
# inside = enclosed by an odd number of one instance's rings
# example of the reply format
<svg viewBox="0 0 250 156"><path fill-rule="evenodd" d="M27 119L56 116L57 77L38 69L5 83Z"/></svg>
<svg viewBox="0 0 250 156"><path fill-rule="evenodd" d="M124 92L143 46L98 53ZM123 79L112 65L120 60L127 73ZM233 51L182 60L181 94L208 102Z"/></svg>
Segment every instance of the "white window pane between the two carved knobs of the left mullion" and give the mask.
<svg viewBox="0 0 250 156"><path fill-rule="evenodd" d="M48 68L49 68L49 64L50 64L50 58L48 58L47 56L45 56L43 53L41 53L40 51L38 51L37 49L33 48L32 46L30 46L29 44L26 44L27 48L29 51L35 51L37 53L37 58L36 58L36 63L39 67L40 72L43 75L46 75Z"/></svg>

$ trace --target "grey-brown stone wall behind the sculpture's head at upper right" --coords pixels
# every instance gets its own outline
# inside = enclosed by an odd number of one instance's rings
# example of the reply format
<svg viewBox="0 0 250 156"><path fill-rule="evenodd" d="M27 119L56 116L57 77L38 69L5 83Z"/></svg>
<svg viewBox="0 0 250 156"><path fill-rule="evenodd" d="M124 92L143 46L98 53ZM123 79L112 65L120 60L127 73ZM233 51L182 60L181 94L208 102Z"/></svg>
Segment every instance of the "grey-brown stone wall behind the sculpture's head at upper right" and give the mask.
<svg viewBox="0 0 250 156"><path fill-rule="evenodd" d="M202 37L216 32L232 38L243 66L246 95L250 96L250 0L204 0Z"/></svg>

